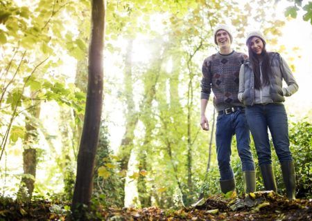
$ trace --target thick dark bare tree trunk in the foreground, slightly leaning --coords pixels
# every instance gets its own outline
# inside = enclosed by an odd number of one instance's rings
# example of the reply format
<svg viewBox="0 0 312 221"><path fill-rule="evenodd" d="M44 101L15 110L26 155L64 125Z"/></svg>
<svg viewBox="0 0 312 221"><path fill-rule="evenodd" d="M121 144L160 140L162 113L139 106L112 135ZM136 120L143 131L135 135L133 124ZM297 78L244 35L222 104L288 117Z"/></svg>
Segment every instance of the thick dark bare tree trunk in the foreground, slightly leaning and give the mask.
<svg viewBox="0 0 312 221"><path fill-rule="evenodd" d="M77 213L76 209L81 204L87 204L89 206L92 196L94 161L96 147L98 146L98 132L103 103L104 25L104 1L93 0L87 104L85 108L83 134L78 152L76 184L71 205L71 211L73 213Z"/></svg>

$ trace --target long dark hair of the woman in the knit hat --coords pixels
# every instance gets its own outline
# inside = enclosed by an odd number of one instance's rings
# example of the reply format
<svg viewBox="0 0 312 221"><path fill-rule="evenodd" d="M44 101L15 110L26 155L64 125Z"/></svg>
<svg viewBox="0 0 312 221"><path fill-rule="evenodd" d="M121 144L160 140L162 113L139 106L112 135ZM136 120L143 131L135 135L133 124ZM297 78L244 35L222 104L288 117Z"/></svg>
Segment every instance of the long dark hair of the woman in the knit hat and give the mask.
<svg viewBox="0 0 312 221"><path fill-rule="evenodd" d="M261 39L261 38L260 38ZM248 54L249 54L249 60L252 64L252 70L254 71L254 88L259 89L262 88L263 86L266 86L270 84L270 74L272 73L271 71L271 66L270 66L270 57L268 56L268 52L266 52L266 41L261 41L263 42L263 49L261 52L261 57L262 57L262 82L260 79L260 66L259 66L259 59L257 57L257 54L254 53L251 49L250 42L252 40L252 37L248 39L247 45L248 45Z"/></svg>

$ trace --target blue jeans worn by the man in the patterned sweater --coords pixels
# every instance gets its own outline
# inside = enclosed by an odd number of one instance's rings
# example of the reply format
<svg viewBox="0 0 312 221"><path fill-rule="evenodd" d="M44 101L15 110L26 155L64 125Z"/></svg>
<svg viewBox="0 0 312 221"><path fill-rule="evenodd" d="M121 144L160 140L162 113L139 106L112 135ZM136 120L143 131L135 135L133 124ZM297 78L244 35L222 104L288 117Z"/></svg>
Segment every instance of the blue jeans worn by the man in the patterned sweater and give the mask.
<svg viewBox="0 0 312 221"><path fill-rule="evenodd" d="M230 164L233 135L236 135L242 171L254 171L254 160L250 151L249 128L244 111L239 110L228 115L218 115L216 122L216 151L220 180L232 180L234 178Z"/></svg>

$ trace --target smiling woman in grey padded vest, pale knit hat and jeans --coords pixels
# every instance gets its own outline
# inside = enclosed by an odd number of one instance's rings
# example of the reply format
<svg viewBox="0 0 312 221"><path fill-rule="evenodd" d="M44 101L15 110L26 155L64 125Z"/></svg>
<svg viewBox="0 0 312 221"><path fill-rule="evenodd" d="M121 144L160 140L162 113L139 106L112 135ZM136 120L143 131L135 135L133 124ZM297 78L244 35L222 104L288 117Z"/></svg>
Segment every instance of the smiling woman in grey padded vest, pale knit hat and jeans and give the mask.
<svg viewBox="0 0 312 221"><path fill-rule="evenodd" d="M289 149L287 114L282 102L293 95L298 85L286 61L277 52L266 51L266 41L259 31L248 34L249 59L239 73L239 100L245 104L245 115L256 146L263 184L267 191L277 191L272 170L270 140L281 164L287 197L295 200L295 169ZM282 88L282 80L287 87Z"/></svg>

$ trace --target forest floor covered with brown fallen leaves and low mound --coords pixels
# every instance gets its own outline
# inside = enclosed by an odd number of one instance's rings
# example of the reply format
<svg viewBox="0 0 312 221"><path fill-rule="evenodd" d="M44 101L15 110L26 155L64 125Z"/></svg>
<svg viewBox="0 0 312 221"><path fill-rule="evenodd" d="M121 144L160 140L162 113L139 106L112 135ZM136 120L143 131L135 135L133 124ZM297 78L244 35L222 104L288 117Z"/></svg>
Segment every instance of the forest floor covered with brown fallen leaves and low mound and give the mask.
<svg viewBox="0 0 312 221"><path fill-rule="evenodd" d="M91 220L312 220L312 200L286 200L271 191L251 193L245 198L219 195L178 210L98 207ZM35 200L28 203L0 199L0 220L67 220L69 205Z"/></svg>

